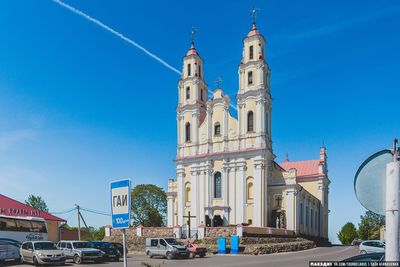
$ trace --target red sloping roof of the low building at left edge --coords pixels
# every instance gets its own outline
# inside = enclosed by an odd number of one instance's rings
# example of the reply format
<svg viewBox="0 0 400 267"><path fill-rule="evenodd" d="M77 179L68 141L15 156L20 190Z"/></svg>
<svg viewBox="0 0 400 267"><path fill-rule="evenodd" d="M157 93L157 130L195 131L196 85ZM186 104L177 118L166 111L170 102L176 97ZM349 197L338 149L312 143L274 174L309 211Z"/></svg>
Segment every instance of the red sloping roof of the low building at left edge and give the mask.
<svg viewBox="0 0 400 267"><path fill-rule="evenodd" d="M0 194L0 214L16 217L39 217L48 221L65 222L64 219L32 208L2 194Z"/></svg>

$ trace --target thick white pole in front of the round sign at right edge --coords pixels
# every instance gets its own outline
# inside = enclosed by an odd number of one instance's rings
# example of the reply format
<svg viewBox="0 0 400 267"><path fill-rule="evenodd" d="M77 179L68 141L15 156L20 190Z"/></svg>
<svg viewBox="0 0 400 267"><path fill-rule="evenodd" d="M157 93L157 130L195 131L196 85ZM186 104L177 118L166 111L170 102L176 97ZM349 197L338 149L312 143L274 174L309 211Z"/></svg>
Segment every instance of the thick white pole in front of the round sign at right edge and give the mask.
<svg viewBox="0 0 400 267"><path fill-rule="evenodd" d="M386 245L385 260L399 261L399 189L400 162L397 139L394 140L393 162L386 165Z"/></svg>

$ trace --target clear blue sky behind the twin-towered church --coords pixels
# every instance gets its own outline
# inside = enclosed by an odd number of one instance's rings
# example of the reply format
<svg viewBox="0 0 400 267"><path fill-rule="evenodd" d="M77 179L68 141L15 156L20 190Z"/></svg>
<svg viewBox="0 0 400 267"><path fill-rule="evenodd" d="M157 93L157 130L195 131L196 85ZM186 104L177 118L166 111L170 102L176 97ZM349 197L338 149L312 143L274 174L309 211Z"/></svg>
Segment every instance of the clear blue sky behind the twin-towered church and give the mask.
<svg viewBox="0 0 400 267"><path fill-rule="evenodd" d="M198 29L210 89L234 98L248 10L267 40L277 161L328 149L330 238L364 209L358 165L399 135L400 3L68 0L177 69ZM175 175L179 76L49 0L0 1L0 193L109 210L109 182ZM91 225L109 218L84 213ZM75 224L74 214L66 214Z"/></svg>

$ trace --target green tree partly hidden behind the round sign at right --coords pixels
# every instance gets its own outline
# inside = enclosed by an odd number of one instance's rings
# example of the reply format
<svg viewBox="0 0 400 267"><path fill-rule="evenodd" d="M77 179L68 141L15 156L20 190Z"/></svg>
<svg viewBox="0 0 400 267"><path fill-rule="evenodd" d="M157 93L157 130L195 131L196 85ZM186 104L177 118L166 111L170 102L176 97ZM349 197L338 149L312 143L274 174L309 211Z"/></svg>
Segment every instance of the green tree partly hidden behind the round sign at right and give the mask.
<svg viewBox="0 0 400 267"><path fill-rule="evenodd" d="M379 229L385 224L385 216L367 211L361 215L361 222L358 224L358 236L363 240L379 239Z"/></svg>

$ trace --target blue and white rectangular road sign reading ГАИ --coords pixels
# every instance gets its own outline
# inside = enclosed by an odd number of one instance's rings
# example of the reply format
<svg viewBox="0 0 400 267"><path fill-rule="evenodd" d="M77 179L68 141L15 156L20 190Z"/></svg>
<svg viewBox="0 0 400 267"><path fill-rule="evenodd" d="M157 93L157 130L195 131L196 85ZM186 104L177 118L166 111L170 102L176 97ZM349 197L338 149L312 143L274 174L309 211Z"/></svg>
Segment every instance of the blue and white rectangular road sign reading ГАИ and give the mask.
<svg viewBox="0 0 400 267"><path fill-rule="evenodd" d="M113 228L129 228L131 222L131 180L114 181L110 184Z"/></svg>

